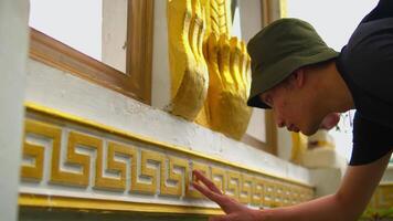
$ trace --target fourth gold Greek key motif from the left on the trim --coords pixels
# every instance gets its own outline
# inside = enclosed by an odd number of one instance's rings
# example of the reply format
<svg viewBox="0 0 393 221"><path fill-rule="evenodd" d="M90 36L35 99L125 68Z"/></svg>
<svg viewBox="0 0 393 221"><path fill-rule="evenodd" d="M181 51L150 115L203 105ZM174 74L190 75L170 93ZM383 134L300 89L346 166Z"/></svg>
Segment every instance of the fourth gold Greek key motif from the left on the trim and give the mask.
<svg viewBox="0 0 393 221"><path fill-rule="evenodd" d="M163 164L163 156L159 152L150 151L150 150L141 150L140 151L140 175L137 170L137 160L132 161L132 179L131 179L131 191L144 192L149 194L157 193L157 177L160 171L160 167ZM159 169L148 167L148 162L152 161L158 164ZM139 177L150 179L150 183L138 181Z"/></svg>

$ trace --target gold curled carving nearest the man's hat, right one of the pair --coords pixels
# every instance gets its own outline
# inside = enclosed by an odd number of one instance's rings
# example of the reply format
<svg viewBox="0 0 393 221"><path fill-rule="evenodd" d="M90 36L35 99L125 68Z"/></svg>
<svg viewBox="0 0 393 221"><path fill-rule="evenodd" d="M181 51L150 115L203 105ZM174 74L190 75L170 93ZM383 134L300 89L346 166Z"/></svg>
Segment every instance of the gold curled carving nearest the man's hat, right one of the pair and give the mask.
<svg viewBox="0 0 393 221"><path fill-rule="evenodd" d="M230 40L225 34L219 38L212 33L206 49L209 124L214 130L241 139L252 112L246 105L251 73L245 43L237 38Z"/></svg>

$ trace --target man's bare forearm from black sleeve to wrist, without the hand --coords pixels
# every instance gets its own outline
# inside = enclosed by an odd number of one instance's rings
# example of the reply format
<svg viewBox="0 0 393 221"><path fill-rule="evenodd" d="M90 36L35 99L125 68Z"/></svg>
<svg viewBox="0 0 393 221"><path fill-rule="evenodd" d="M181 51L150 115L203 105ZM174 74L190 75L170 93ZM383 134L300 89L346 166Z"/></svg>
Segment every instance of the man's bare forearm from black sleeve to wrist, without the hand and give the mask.
<svg viewBox="0 0 393 221"><path fill-rule="evenodd" d="M272 220L357 220L369 203L391 152L362 166L349 166L337 193L298 206L270 210ZM278 218L278 219L275 219Z"/></svg>

